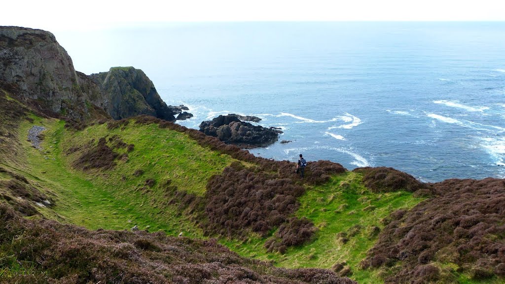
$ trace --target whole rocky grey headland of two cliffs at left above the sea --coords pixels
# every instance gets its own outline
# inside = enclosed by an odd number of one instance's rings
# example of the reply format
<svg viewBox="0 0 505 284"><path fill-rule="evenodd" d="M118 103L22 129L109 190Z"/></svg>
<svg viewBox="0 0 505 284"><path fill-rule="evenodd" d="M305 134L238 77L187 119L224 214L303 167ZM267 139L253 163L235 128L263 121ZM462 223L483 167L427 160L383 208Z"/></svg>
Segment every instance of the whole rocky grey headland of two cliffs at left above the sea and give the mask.
<svg viewBox="0 0 505 284"><path fill-rule="evenodd" d="M181 112L163 102L141 70L116 67L92 76L75 71L55 36L43 30L0 26L0 83L17 86L20 99L42 112L77 121L107 114L174 121Z"/></svg>

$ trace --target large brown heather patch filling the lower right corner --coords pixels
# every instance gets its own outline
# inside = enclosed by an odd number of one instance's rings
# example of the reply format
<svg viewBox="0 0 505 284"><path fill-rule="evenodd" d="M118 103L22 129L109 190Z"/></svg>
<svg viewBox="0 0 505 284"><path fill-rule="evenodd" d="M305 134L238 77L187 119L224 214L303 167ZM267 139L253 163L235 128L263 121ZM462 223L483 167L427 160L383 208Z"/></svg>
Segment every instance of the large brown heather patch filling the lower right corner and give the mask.
<svg viewBox="0 0 505 284"><path fill-rule="evenodd" d="M388 283L453 280L433 261L455 263L474 279L505 276L505 180L448 179L429 186L439 197L391 214L363 266L400 261Z"/></svg>

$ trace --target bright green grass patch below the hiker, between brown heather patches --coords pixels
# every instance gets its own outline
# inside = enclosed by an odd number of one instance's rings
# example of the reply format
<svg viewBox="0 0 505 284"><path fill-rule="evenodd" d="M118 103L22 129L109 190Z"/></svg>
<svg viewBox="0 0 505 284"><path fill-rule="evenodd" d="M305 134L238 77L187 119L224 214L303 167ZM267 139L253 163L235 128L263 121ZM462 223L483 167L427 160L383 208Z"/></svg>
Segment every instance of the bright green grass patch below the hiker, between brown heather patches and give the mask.
<svg viewBox="0 0 505 284"><path fill-rule="evenodd" d="M382 227L380 220L390 212L400 208L412 208L422 199L411 193L395 192L375 194L368 191L361 182L361 174L347 172L333 177L327 184L311 188L301 197L298 216L313 220L319 228L316 240L308 245L288 249L285 255L267 253L263 248L265 240L251 238L235 250L243 256L274 260L286 267L331 268L334 264L346 262L354 273L351 278L363 283L381 283L380 271L361 270L360 261L373 246L376 236L371 234L373 226ZM364 210L373 208L374 210ZM354 236L351 227L361 225ZM340 232L345 232L349 241L340 241ZM231 242L228 246L233 248Z"/></svg>

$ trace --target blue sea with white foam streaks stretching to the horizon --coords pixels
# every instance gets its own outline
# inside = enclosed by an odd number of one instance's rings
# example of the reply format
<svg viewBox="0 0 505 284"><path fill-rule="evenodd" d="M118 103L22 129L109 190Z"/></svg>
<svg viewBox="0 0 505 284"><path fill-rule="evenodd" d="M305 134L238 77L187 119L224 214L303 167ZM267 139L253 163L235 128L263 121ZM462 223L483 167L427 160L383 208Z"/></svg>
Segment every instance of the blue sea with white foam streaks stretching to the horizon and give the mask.
<svg viewBox="0 0 505 284"><path fill-rule="evenodd" d="M505 177L505 22L179 23L102 36L100 52L114 51L104 63L141 68L167 104L189 107L179 124L235 113L282 128L254 155L427 182Z"/></svg>

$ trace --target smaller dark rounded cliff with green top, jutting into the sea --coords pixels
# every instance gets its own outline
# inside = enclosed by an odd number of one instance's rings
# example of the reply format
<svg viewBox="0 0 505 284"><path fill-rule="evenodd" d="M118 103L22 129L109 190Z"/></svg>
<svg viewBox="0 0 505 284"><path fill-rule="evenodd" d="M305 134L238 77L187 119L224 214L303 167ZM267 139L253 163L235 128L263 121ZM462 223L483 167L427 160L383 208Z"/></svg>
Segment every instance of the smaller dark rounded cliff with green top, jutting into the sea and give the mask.
<svg viewBox="0 0 505 284"><path fill-rule="evenodd" d="M105 97L106 111L114 119L135 115L151 115L174 121L180 107L169 107L160 98L155 85L142 70L114 67L109 72L91 74Z"/></svg>

